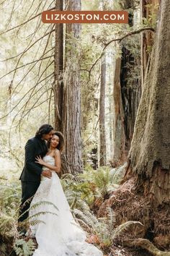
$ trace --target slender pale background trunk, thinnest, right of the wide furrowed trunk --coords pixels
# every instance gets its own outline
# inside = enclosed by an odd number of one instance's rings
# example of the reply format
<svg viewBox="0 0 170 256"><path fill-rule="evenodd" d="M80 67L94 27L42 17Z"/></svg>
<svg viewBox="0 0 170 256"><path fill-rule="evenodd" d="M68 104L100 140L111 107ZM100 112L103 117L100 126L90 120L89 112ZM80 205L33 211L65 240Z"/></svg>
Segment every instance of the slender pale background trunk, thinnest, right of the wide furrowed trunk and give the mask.
<svg viewBox="0 0 170 256"><path fill-rule="evenodd" d="M105 134L105 87L106 87L106 56L101 65L101 82L99 98L99 166L106 166L106 134Z"/></svg>

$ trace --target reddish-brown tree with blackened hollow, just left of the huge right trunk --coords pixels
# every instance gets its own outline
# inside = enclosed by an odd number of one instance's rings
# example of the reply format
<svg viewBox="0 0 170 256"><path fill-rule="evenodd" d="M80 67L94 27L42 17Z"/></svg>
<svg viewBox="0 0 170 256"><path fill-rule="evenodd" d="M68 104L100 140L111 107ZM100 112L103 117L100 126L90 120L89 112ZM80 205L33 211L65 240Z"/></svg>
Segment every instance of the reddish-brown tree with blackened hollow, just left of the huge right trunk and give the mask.
<svg viewBox="0 0 170 256"><path fill-rule="evenodd" d="M129 11L129 27L135 27L138 22L133 14L137 3L135 1L119 1L123 9ZM121 44L121 60L116 60L114 80L115 103L115 150L113 165L127 161L130 143L133 137L135 118L141 95L140 82L140 37L127 38Z"/></svg>

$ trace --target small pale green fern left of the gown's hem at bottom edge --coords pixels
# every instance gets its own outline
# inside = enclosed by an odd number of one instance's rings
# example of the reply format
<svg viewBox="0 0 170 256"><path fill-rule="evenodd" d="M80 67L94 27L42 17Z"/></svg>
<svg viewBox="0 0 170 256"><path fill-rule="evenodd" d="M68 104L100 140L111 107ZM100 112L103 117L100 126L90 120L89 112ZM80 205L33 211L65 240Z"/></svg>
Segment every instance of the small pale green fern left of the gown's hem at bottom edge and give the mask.
<svg viewBox="0 0 170 256"><path fill-rule="evenodd" d="M32 239L25 241L24 239L16 239L14 242L14 251L19 256L29 256L35 251L35 243Z"/></svg>

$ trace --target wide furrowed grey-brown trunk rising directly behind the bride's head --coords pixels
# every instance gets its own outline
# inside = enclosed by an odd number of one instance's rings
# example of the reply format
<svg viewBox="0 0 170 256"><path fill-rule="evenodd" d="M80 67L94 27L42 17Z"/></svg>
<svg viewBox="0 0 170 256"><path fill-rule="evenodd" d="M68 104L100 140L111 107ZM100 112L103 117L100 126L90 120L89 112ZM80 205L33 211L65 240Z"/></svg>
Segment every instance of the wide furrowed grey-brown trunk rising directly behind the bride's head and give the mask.
<svg viewBox="0 0 170 256"><path fill-rule="evenodd" d="M68 10L80 10L81 0L67 1ZM79 38L81 25L66 24L65 73L63 86L62 132L65 137L64 169L73 174L82 171L81 162L81 87Z"/></svg>

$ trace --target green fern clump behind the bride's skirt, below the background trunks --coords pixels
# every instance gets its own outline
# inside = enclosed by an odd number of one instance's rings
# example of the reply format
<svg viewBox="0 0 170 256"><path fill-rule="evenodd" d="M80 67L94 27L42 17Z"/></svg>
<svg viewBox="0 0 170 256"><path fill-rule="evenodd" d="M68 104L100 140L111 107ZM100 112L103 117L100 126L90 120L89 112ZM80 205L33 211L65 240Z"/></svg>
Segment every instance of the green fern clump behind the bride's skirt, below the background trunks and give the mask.
<svg viewBox="0 0 170 256"><path fill-rule="evenodd" d="M111 172L109 167L104 166L96 171L90 165L86 165L83 174L73 176L64 174L61 183L66 193L66 197L72 208L79 205L79 200L84 200L91 208L97 197L104 200L109 192L117 188L124 167Z"/></svg>

